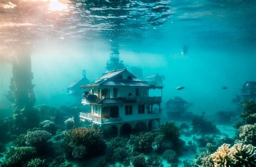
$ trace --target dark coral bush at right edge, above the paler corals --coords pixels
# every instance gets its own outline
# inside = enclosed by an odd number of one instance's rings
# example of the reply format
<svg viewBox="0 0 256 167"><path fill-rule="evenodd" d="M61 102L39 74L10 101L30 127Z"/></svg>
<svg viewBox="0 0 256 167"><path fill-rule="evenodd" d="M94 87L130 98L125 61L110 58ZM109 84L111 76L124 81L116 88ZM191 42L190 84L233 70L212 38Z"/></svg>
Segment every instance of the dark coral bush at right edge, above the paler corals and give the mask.
<svg viewBox="0 0 256 167"><path fill-rule="evenodd" d="M244 112L242 112L241 118L245 124L256 124L256 103L253 100L243 101L242 108Z"/></svg>

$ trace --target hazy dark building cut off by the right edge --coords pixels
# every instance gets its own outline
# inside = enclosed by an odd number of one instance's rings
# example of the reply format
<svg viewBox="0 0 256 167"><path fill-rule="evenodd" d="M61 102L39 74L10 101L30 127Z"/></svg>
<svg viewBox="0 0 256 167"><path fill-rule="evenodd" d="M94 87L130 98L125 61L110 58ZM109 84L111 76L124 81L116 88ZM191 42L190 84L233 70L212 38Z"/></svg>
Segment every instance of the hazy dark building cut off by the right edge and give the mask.
<svg viewBox="0 0 256 167"><path fill-rule="evenodd" d="M243 99L256 100L256 82L246 81L242 85L241 96Z"/></svg>

